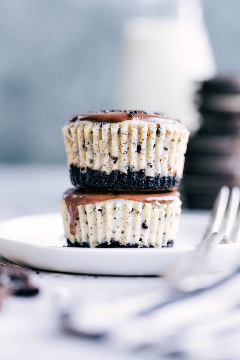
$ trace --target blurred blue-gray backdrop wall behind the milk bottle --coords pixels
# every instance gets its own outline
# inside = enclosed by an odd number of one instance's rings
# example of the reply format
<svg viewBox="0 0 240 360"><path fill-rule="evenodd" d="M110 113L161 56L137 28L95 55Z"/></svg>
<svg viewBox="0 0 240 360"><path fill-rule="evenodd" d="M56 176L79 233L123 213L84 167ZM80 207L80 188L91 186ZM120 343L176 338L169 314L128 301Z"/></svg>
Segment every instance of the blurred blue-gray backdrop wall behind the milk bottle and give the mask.
<svg viewBox="0 0 240 360"><path fill-rule="evenodd" d="M202 6L218 72L239 71L240 1ZM118 107L123 22L175 12L173 0L1 0L0 161L65 162L68 118Z"/></svg>

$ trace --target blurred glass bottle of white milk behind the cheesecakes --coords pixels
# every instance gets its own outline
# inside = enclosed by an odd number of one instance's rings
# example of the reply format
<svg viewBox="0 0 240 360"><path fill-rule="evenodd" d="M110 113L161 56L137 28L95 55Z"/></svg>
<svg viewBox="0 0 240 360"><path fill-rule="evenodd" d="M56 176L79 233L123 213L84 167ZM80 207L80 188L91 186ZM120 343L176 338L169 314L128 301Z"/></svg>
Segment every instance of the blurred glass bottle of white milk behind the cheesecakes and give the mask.
<svg viewBox="0 0 240 360"><path fill-rule="evenodd" d="M159 111L198 126L194 82L216 71L200 3L177 1L175 17L131 17L124 23L116 105Z"/></svg>

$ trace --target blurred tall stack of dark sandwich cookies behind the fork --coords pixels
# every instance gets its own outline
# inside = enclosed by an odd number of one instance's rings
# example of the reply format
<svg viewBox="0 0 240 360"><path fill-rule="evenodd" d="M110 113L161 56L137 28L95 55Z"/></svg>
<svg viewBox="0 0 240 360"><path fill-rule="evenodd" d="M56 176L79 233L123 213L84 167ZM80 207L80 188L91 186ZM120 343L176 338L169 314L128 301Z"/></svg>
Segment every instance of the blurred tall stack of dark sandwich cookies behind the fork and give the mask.
<svg viewBox="0 0 240 360"><path fill-rule="evenodd" d="M223 185L240 185L240 77L215 77L197 93L202 125L189 140L184 191L190 207L210 208Z"/></svg>

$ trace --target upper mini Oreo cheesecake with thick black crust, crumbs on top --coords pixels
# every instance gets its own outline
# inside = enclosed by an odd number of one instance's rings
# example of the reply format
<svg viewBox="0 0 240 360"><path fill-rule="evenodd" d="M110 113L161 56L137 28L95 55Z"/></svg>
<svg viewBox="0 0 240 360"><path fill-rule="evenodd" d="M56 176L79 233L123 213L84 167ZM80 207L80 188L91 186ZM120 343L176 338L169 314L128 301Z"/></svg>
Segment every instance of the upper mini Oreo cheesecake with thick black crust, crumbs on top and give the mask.
<svg viewBox="0 0 240 360"><path fill-rule="evenodd" d="M78 114L63 127L72 184L108 190L177 189L189 131L144 111Z"/></svg>

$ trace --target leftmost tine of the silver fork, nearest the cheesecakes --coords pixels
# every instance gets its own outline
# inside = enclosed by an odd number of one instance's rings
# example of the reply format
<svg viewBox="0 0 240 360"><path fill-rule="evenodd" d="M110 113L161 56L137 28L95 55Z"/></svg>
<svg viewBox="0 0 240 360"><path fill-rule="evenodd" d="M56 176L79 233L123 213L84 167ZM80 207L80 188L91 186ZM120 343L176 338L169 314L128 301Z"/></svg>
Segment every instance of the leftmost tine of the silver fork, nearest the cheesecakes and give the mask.
<svg viewBox="0 0 240 360"><path fill-rule="evenodd" d="M205 238L212 233L218 232L222 224L224 214L226 212L230 190L227 186L223 186L219 191L212 207L212 214L209 227L205 234Z"/></svg>

